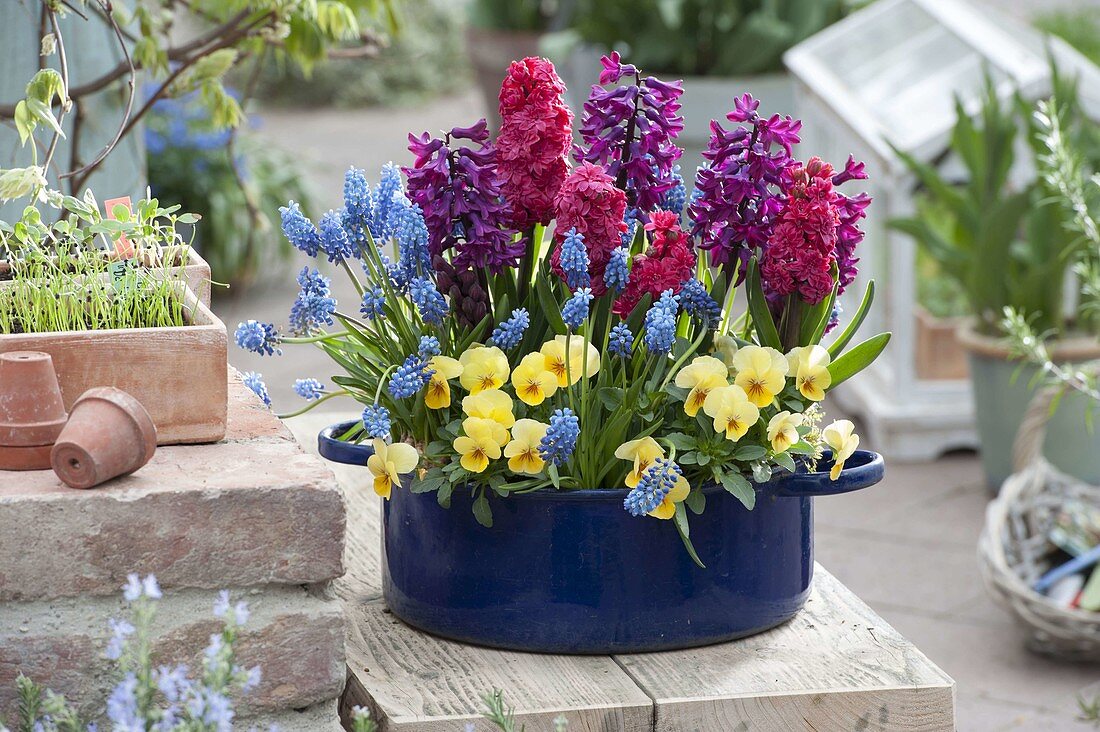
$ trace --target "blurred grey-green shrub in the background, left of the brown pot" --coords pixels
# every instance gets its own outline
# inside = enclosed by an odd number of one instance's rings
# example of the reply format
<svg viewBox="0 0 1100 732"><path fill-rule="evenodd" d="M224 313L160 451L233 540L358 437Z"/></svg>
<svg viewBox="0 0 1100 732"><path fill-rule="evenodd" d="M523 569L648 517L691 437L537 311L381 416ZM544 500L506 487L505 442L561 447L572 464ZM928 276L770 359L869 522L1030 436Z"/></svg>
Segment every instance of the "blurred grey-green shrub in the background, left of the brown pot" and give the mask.
<svg viewBox="0 0 1100 732"><path fill-rule="evenodd" d="M424 0L405 6L400 15L400 30L370 61L330 58L307 75L270 58L257 96L265 105L292 107L400 106L465 86L461 9L449 0Z"/></svg>

